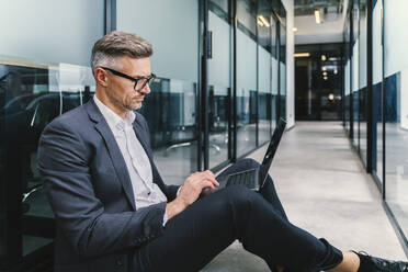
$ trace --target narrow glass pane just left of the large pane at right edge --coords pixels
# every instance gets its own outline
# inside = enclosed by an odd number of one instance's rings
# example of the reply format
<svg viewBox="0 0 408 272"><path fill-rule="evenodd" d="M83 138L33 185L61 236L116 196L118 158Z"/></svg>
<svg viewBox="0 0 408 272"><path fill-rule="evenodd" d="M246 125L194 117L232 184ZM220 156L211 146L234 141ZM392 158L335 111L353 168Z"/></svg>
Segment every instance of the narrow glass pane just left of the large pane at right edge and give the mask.
<svg viewBox="0 0 408 272"><path fill-rule="evenodd" d="M376 151L373 150L374 172L383 182L383 45L382 45L382 1L376 1L373 9L373 97L375 101L373 121L376 121ZM374 140L375 143L375 140Z"/></svg>

